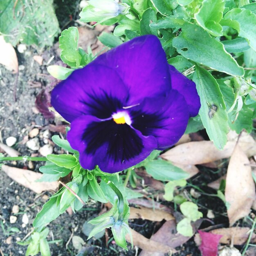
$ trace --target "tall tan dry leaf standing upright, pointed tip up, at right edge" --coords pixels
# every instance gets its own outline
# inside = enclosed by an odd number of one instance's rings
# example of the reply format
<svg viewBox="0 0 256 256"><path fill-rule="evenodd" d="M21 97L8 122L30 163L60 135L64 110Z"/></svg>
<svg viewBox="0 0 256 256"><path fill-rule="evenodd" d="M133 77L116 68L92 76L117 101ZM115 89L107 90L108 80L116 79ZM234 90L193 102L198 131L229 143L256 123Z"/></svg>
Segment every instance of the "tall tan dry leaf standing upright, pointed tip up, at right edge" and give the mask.
<svg viewBox="0 0 256 256"><path fill-rule="evenodd" d="M256 198L252 168L245 164L250 164L249 159L237 144L229 160L225 188L230 226L249 214Z"/></svg>

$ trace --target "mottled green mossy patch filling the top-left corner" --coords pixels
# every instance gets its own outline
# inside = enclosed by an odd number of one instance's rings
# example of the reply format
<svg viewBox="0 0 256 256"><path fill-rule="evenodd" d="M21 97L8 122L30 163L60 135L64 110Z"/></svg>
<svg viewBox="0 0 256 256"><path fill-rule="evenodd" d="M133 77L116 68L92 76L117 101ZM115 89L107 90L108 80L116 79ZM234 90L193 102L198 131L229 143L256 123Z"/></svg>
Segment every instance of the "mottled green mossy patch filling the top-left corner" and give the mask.
<svg viewBox="0 0 256 256"><path fill-rule="evenodd" d="M0 34L12 45L52 45L59 33L53 0L0 1Z"/></svg>

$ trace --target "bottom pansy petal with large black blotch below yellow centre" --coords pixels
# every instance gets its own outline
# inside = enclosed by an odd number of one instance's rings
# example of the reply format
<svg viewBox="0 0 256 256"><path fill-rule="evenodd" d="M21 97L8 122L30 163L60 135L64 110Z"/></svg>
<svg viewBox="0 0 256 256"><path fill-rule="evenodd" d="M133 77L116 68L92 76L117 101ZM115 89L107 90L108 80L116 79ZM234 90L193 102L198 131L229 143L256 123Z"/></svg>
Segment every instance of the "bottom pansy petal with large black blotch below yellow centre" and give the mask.
<svg viewBox="0 0 256 256"><path fill-rule="evenodd" d="M143 136L128 124L89 115L72 121L67 139L79 151L83 168L99 165L107 173L123 171L141 162L157 147L153 136Z"/></svg>

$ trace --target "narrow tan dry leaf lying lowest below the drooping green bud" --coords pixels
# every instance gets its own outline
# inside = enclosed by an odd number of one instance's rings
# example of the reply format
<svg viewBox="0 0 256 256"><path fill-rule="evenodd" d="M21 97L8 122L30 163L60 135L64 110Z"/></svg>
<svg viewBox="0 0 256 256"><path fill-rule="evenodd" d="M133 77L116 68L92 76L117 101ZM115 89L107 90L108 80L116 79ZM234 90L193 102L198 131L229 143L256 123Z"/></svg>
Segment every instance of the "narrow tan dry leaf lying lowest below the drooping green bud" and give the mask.
<svg viewBox="0 0 256 256"><path fill-rule="evenodd" d="M148 250L148 252L151 252L151 253L153 252L154 255L157 255L157 254L155 254L157 252L162 252L163 254L167 253L167 252L172 252L172 253L176 252L176 250L173 249L172 247L170 247L168 245L164 245L163 243L159 243L159 242L150 240L150 239L146 238L145 236L142 236L141 234L139 234L138 232L136 232L133 229L130 229L130 231L132 233L133 245L135 245L141 249ZM126 235L126 240L128 242L131 242L129 235Z"/></svg>

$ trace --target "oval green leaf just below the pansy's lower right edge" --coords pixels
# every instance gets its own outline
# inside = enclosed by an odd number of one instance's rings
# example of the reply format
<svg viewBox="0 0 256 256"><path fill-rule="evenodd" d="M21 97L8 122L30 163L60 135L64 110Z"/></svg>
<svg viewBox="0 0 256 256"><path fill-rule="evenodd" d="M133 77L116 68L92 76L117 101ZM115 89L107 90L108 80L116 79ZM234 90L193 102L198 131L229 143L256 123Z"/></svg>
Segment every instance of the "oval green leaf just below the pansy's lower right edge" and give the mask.
<svg viewBox="0 0 256 256"><path fill-rule="evenodd" d="M171 162L156 159L145 165L146 172L156 180L170 181L189 177L189 174Z"/></svg>

